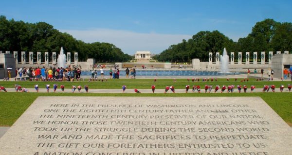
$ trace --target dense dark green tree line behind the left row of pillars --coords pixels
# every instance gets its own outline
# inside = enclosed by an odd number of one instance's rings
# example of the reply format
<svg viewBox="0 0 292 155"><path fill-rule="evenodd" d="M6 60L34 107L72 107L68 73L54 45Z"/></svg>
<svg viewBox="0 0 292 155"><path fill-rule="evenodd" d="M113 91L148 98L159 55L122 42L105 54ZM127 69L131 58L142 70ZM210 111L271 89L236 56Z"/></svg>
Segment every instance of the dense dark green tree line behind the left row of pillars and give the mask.
<svg viewBox="0 0 292 155"><path fill-rule="evenodd" d="M78 52L78 60L86 61L94 58L97 62L127 62L133 56L124 52L110 43L84 43L76 40L68 33L62 33L48 23L25 23L23 21L7 20L0 16L0 50L2 51L29 51L41 52L44 60L44 52L56 52L58 55L63 47L64 52ZM52 54L49 54L52 57ZM18 57L20 58L18 53ZM37 57L34 56L36 59ZM21 59L21 58L20 58ZM18 59L18 60L20 60ZM51 60L51 58L50 58Z"/></svg>

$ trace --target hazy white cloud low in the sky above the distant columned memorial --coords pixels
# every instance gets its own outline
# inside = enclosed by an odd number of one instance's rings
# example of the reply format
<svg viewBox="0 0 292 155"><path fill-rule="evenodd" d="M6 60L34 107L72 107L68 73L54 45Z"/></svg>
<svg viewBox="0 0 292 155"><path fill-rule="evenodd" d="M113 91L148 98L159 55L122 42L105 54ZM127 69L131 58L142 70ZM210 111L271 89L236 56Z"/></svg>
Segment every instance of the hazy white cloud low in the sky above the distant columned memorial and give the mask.
<svg viewBox="0 0 292 155"><path fill-rule="evenodd" d="M133 55L138 50L149 50L158 54L173 44L188 40L192 35L138 33L125 30L92 29L92 30L60 30L73 35L86 43L106 42L121 48L124 53Z"/></svg>

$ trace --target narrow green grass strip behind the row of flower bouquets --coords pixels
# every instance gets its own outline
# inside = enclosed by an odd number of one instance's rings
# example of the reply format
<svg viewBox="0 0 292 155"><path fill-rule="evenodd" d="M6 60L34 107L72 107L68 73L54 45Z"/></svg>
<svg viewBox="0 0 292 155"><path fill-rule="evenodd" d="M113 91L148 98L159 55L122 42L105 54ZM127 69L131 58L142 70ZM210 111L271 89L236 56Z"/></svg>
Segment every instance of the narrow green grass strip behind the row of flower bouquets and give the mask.
<svg viewBox="0 0 292 155"><path fill-rule="evenodd" d="M213 85L214 87L216 85L246 85L248 88L250 88L251 85L255 85L256 88L263 88L263 85L274 84L276 89L278 89L281 84L285 87L287 87L287 84L292 84L291 81L256 81L255 78L245 82L240 82L240 80L242 80L242 78L238 78L237 81L235 81L234 78L230 78L229 81L227 81L226 78L221 78L217 81L214 79L213 82L211 82L211 80L209 80L209 82L202 82L201 79L199 82L192 82L192 79L188 82L186 78L176 79L176 82L174 82L173 79L157 79L156 82L154 82L154 79L108 79L107 82L87 82L88 79L85 80L86 82L0 81L0 86L14 88L14 84L18 84L24 88L34 88L35 85L38 84L39 88L46 88L46 84L58 84L59 86L64 85L65 88L71 88L72 85L84 86L87 84L90 89L121 89L122 85L126 85L128 89L150 89L151 85L155 85L156 89L164 89L165 86L173 85L175 89L184 89L185 85L200 85L201 88L204 85Z"/></svg>

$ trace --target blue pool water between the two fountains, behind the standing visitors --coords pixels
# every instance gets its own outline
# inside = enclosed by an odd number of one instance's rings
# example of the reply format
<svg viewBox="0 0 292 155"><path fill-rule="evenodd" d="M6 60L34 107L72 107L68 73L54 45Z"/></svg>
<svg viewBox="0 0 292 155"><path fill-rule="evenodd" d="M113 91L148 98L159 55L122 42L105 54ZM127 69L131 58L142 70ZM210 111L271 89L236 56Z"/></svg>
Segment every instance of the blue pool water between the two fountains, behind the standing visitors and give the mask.
<svg viewBox="0 0 292 155"><path fill-rule="evenodd" d="M100 71L97 70L100 76ZM220 76L237 75L242 72L219 73L218 71L190 71L190 70L136 70L137 76ZM81 71L82 76L91 76L91 71ZM104 75L110 75L109 70L104 71ZM120 71L120 76L126 76L126 71Z"/></svg>

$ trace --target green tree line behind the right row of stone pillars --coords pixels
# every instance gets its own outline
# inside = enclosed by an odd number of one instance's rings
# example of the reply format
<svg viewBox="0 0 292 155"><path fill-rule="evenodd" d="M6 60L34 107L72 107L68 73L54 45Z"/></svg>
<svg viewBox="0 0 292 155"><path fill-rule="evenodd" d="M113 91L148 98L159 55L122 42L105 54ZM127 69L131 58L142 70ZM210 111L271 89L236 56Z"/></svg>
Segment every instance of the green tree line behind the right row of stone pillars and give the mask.
<svg viewBox="0 0 292 155"><path fill-rule="evenodd" d="M187 41L183 39L182 43L171 45L154 58L161 62L188 62L194 58L207 62L208 54L212 52L214 61L216 52L222 54L224 47L228 55L230 52L235 53L235 59L238 52L250 52L253 56L253 52L266 51L266 58L268 58L268 51L273 51L274 54L276 51L292 51L292 23L265 19L257 22L252 32L247 37L239 38L237 42L217 30L200 31ZM243 59L246 59L245 54L243 54Z"/></svg>

